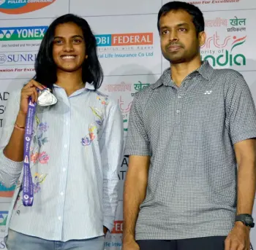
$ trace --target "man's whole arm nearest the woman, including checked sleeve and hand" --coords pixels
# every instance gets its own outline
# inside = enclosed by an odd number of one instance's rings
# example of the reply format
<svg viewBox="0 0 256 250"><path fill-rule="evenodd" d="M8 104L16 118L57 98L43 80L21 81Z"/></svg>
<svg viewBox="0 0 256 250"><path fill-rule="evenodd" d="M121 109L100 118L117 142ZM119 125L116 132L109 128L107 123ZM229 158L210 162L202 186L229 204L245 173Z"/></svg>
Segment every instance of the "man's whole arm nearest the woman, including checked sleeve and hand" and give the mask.
<svg viewBox="0 0 256 250"><path fill-rule="evenodd" d="M123 250L140 249L135 242L135 224L140 204L146 197L148 168L151 157L150 139L145 126L145 98L135 95L129 112L129 126L124 155L129 155L128 171L124 183Z"/></svg>

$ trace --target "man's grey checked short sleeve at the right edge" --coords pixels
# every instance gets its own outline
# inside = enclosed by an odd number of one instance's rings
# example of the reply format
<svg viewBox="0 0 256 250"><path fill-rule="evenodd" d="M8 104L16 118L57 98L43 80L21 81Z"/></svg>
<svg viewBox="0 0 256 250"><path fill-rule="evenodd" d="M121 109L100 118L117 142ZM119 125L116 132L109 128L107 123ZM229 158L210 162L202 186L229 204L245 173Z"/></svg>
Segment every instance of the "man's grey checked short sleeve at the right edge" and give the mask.
<svg viewBox="0 0 256 250"><path fill-rule="evenodd" d="M249 86L238 72L228 79L230 85L225 98L226 127L233 144L249 138L256 138L255 103Z"/></svg>

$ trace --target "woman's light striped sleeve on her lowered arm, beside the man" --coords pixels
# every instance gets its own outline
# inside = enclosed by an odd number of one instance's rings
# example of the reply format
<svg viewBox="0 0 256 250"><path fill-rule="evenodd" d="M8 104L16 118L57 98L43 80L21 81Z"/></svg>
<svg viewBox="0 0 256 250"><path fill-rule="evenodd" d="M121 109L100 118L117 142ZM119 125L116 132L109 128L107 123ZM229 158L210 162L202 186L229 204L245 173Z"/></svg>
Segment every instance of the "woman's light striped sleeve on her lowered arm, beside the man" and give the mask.
<svg viewBox="0 0 256 250"><path fill-rule="evenodd" d="M118 104L108 106L99 147L103 166L103 225L111 231L118 205L118 168L124 153L124 125Z"/></svg>

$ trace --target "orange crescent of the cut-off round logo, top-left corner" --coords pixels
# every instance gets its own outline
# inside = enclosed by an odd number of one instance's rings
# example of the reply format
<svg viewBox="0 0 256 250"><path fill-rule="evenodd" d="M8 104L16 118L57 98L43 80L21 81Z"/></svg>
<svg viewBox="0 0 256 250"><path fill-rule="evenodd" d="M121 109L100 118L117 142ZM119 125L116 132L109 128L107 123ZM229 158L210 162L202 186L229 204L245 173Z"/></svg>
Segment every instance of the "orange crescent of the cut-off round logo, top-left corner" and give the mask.
<svg viewBox="0 0 256 250"><path fill-rule="evenodd" d="M28 3L26 5L24 5L23 7L17 7L17 8L12 8L12 9L6 9L6 8L0 8L0 12L3 12L5 14L24 14L24 13L28 13L28 12L33 12L37 9L42 9L47 7L50 4L53 4L53 2L56 0L52 0L48 3L42 2L42 3Z"/></svg>

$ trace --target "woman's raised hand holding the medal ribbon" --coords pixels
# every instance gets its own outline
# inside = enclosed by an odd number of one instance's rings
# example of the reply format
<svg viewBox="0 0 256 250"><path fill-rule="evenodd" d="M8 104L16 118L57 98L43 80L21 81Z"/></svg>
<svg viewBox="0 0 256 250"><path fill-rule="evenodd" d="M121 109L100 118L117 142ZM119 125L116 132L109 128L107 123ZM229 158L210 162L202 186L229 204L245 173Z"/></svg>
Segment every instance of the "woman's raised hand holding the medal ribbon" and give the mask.
<svg viewBox="0 0 256 250"><path fill-rule="evenodd" d="M27 85L23 87L20 94L20 114L26 115L29 109L29 98L31 97L31 101L37 102L37 88L39 90L43 90L45 87L43 87L39 82L36 82L35 80L30 80Z"/></svg>

